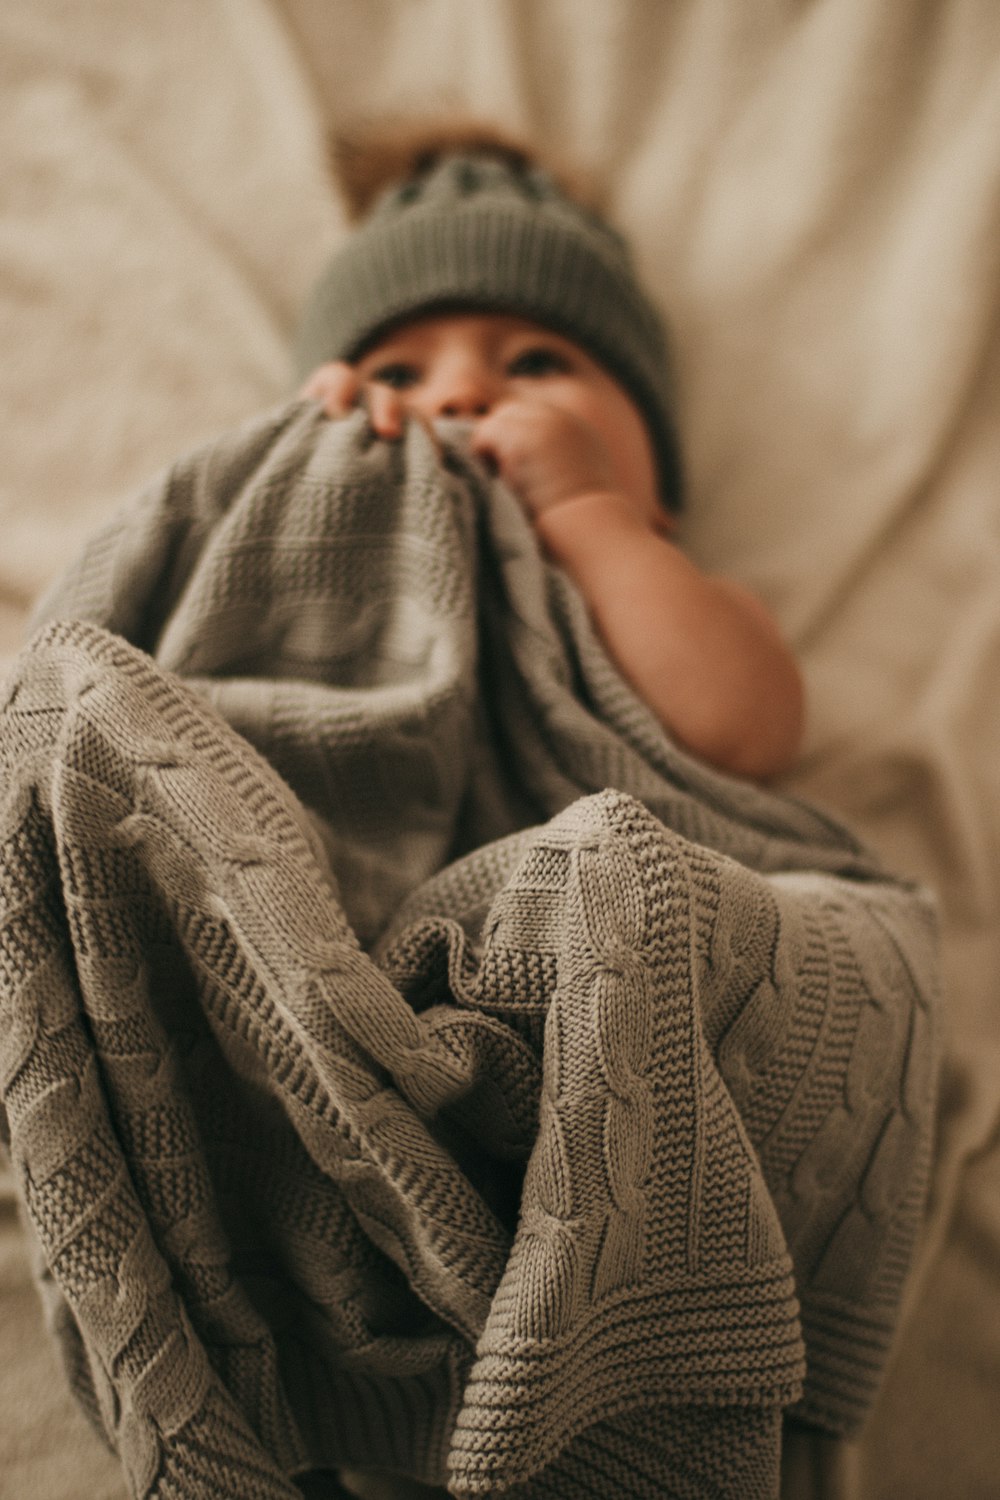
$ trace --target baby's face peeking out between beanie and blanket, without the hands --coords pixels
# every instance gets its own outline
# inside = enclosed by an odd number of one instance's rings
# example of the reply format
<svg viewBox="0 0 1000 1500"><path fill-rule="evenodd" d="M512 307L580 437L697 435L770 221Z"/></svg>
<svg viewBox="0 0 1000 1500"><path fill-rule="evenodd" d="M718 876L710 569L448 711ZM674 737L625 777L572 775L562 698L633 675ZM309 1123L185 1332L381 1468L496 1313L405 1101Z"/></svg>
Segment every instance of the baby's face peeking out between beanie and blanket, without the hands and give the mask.
<svg viewBox="0 0 1000 1500"><path fill-rule="evenodd" d="M622 494L648 519L663 516L646 424L631 398L570 339L507 314L447 314L393 328L355 362L363 381L390 386L435 422L475 422L504 400L540 400L600 436Z"/></svg>

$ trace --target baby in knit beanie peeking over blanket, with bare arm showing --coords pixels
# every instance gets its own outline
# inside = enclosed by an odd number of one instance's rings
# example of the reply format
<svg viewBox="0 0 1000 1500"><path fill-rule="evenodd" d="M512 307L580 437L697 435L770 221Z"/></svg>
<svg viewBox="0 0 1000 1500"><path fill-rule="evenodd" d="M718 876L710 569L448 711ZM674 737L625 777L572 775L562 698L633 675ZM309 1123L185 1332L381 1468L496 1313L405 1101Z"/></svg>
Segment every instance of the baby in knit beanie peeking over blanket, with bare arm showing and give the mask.
<svg viewBox="0 0 1000 1500"><path fill-rule="evenodd" d="M666 344L619 237L483 132L373 142L346 177L366 218L307 310L301 394L363 400L388 440L466 418L664 729L730 772L787 770L801 676L765 608L676 546Z"/></svg>

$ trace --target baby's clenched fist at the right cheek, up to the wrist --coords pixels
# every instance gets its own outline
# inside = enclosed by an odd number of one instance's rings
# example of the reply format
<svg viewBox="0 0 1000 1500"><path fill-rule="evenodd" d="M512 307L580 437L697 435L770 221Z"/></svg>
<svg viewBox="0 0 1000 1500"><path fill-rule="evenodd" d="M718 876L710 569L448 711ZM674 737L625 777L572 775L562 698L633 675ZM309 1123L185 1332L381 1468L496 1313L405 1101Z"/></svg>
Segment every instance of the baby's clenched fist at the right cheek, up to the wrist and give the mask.
<svg viewBox="0 0 1000 1500"><path fill-rule="evenodd" d="M472 452L498 470L529 516L564 500L616 488L600 434L547 400L499 402L477 423Z"/></svg>

